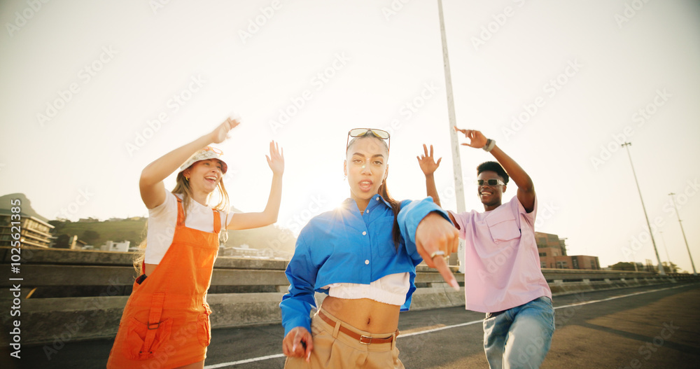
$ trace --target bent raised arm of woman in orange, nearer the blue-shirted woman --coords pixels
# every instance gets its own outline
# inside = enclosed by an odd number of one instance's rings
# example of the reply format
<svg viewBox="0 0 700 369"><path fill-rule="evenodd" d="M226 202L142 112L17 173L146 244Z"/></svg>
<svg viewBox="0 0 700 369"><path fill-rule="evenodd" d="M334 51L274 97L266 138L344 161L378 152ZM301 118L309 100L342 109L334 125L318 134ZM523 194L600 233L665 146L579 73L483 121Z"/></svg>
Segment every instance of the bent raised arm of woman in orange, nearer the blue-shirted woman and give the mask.
<svg viewBox="0 0 700 369"><path fill-rule="evenodd" d="M282 174L284 173L284 156L279 145L274 141L269 143L269 156L267 165L272 170L272 186L269 189L265 210L258 213L236 213L231 216L226 226L230 230L247 230L250 228L264 227L277 221L279 204L282 200Z"/></svg>

